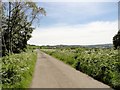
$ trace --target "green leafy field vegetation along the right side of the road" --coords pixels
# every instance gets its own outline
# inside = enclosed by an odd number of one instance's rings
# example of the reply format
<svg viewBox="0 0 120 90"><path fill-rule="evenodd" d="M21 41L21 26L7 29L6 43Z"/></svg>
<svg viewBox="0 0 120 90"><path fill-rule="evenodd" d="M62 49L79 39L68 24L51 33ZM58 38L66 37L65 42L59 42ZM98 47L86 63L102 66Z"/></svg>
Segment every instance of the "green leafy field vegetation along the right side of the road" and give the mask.
<svg viewBox="0 0 120 90"><path fill-rule="evenodd" d="M118 50L105 48L41 49L93 78L120 88L120 61Z"/></svg>

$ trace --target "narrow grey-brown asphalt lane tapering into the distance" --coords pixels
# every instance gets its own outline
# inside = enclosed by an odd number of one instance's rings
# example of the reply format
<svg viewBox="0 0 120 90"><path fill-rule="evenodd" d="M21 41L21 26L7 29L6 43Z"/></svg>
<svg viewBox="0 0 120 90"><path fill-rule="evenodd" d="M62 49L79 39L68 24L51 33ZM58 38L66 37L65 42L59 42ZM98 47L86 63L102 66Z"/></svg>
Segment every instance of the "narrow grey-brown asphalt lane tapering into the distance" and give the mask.
<svg viewBox="0 0 120 90"><path fill-rule="evenodd" d="M110 88L39 50L31 88Z"/></svg>

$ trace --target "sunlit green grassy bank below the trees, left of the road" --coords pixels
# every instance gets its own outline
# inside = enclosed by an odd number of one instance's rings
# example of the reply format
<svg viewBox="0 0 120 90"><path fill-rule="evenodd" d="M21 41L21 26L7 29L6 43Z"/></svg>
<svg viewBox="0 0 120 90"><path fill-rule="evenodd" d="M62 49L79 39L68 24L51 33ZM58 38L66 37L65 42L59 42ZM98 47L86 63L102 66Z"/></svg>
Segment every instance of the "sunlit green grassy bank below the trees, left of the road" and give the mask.
<svg viewBox="0 0 120 90"><path fill-rule="evenodd" d="M37 59L36 52L27 51L0 58L2 88L28 88Z"/></svg>

